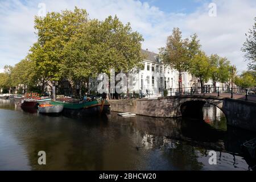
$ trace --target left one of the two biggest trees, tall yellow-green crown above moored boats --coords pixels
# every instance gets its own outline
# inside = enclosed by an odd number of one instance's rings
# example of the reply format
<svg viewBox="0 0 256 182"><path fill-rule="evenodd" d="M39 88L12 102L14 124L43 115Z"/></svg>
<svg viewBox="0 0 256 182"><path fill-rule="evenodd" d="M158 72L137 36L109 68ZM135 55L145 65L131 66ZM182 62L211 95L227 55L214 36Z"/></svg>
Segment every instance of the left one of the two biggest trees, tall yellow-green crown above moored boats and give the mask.
<svg viewBox="0 0 256 182"><path fill-rule="evenodd" d="M35 17L38 41L30 49L28 58L34 61L44 83L59 81L61 61L65 59L63 49L81 27L88 22L86 10L75 7L74 11L48 13L46 17ZM54 96L55 93L53 93Z"/></svg>

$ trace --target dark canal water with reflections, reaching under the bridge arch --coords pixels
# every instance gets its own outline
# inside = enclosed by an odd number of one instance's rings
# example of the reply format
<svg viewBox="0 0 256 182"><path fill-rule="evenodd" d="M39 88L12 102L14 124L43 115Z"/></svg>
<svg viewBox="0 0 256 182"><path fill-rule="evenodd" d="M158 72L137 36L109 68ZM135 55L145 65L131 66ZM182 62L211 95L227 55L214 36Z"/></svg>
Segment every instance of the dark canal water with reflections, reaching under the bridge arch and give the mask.
<svg viewBox="0 0 256 182"><path fill-rule="evenodd" d="M204 121L138 116L67 118L0 100L0 170L249 170L241 144L255 133L226 126L216 107ZM46 165L38 152L46 152ZM209 164L209 152L217 164Z"/></svg>

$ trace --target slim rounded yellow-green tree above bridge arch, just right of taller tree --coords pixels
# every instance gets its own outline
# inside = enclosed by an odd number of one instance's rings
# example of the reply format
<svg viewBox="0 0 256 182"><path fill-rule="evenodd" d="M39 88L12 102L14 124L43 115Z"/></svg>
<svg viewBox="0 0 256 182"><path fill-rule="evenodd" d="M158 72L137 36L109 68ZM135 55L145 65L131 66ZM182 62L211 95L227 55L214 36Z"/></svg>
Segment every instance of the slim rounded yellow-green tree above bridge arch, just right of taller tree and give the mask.
<svg viewBox="0 0 256 182"><path fill-rule="evenodd" d="M207 82L211 76L209 57L203 51L200 51L191 60L189 72L200 79L201 93L203 93L204 82Z"/></svg>

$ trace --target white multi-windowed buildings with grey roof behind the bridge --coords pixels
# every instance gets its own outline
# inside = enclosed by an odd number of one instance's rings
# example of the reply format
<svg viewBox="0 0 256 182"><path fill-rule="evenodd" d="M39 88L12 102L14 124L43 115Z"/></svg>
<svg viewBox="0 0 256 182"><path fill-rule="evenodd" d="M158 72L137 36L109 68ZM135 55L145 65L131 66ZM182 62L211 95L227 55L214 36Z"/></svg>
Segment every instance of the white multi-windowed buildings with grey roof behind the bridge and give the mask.
<svg viewBox="0 0 256 182"><path fill-rule="evenodd" d="M142 93L149 93L150 95L159 95L161 90L167 89L168 92L177 92L179 88L179 72L172 69L163 63L159 59L159 55L154 52L150 52L142 49L142 53L147 55L147 58L142 62L144 69L134 74L133 77L133 90ZM188 72L182 74L182 88L183 92L192 88L200 87L200 80L192 76ZM89 90L96 91L97 80L90 79ZM220 83L217 83L217 86ZM205 86L213 86L211 80L205 83ZM160 91L160 92L159 92Z"/></svg>

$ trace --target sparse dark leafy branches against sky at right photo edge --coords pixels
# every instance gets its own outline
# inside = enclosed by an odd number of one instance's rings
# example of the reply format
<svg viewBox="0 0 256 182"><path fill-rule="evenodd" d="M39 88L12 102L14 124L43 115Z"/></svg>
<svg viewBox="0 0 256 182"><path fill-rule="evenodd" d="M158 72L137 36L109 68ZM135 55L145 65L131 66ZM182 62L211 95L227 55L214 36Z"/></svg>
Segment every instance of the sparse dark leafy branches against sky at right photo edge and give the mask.
<svg viewBox="0 0 256 182"><path fill-rule="evenodd" d="M248 64L249 68L256 71L256 18L254 18L253 29L249 29L246 42L243 43L242 51L245 52L245 57L250 60L251 63Z"/></svg>

